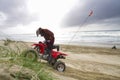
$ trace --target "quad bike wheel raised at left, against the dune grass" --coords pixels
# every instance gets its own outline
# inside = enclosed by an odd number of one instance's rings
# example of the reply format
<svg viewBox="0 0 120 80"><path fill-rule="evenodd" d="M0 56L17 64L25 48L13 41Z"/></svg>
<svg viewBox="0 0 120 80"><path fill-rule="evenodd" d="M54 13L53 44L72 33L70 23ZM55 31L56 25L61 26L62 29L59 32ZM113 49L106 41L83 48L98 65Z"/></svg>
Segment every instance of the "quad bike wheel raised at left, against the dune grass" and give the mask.
<svg viewBox="0 0 120 80"><path fill-rule="evenodd" d="M37 52L33 49L24 51L24 57L31 61L37 61Z"/></svg>

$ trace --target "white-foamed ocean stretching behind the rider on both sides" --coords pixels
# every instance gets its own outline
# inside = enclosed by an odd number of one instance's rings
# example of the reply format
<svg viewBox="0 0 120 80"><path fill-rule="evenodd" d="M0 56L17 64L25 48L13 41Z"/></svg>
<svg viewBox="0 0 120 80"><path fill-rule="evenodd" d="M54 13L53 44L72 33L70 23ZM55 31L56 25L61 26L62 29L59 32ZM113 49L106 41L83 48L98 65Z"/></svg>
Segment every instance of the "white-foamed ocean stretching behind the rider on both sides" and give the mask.
<svg viewBox="0 0 120 80"><path fill-rule="evenodd" d="M44 41L44 38L37 37L36 34L10 34L10 35L0 34L0 39L6 38L26 42ZM120 30L56 33L55 44L107 46L107 47L116 45L120 47Z"/></svg>

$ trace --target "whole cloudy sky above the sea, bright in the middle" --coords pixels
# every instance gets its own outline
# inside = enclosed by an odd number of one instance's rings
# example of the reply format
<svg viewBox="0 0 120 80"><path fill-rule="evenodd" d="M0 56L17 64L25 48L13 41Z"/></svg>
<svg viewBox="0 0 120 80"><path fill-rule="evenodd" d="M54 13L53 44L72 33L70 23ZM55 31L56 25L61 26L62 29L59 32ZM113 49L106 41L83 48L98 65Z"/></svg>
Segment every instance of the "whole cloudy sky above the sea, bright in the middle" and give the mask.
<svg viewBox="0 0 120 80"><path fill-rule="evenodd" d="M120 0L0 0L0 32L29 34L39 27L55 33L120 30Z"/></svg>

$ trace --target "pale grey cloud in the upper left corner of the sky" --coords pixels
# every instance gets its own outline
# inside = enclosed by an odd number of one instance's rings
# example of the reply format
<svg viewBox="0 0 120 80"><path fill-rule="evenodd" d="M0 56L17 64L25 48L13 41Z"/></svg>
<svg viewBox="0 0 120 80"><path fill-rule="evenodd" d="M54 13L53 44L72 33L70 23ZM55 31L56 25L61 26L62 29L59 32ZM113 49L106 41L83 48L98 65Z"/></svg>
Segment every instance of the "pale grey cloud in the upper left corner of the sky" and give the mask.
<svg viewBox="0 0 120 80"><path fill-rule="evenodd" d="M35 16L29 14L26 5L27 0L0 0L0 28L15 27L18 24L25 25L35 20Z"/></svg>

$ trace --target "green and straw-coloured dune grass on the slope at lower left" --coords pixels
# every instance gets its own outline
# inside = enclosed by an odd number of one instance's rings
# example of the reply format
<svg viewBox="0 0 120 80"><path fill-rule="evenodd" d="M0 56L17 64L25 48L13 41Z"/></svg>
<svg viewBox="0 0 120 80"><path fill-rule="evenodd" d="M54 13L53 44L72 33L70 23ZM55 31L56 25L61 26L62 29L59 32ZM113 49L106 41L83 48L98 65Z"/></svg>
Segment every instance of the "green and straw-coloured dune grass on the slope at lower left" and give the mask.
<svg viewBox="0 0 120 80"><path fill-rule="evenodd" d="M15 43L14 48L10 46L11 42L12 44ZM23 48L23 46L17 45L16 42L11 40L5 40L4 46L0 46L0 64L4 63L9 65L8 69L15 65L20 67L19 71L13 71L14 73L10 72L12 78L15 80L55 80L52 75L50 75L50 72L45 70L45 64L26 59L23 56L25 48L22 50L21 48Z"/></svg>

